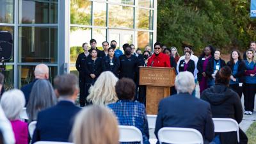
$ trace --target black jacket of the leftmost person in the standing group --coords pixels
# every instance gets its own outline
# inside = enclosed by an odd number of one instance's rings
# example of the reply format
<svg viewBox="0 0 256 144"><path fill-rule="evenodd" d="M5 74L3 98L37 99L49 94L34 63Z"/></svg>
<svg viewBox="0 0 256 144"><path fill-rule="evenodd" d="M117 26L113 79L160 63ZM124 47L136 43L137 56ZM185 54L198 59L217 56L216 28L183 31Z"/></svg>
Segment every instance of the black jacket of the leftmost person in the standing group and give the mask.
<svg viewBox="0 0 256 144"><path fill-rule="evenodd" d="M83 79L85 77L84 72L86 67L86 59L87 59L87 56L84 54L84 52L79 54L77 57L76 69L79 72L79 79Z"/></svg>

